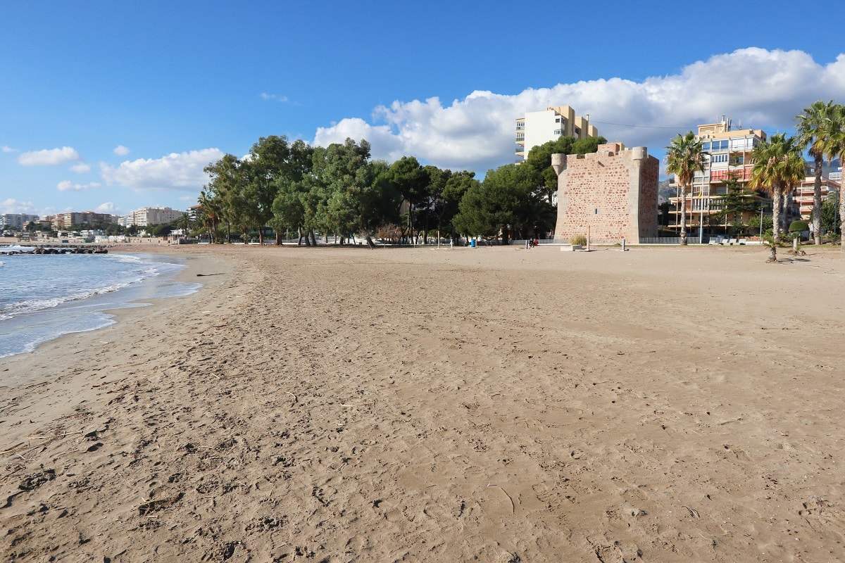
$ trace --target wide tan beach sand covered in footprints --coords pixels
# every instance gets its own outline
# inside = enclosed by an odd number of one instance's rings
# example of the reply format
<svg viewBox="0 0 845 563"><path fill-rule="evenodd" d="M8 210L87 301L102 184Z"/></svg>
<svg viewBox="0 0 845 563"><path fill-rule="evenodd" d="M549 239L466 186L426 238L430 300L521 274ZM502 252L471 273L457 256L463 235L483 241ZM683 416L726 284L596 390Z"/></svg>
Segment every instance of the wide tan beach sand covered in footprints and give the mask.
<svg viewBox="0 0 845 563"><path fill-rule="evenodd" d="M3 560L845 555L836 249L161 252L0 365Z"/></svg>

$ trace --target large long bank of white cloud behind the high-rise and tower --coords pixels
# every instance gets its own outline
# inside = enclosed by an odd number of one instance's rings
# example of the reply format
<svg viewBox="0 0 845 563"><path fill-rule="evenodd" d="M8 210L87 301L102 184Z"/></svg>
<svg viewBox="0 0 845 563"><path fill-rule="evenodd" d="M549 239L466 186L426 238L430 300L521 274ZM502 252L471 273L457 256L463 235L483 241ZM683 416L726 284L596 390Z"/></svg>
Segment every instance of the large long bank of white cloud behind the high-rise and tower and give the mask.
<svg viewBox="0 0 845 563"><path fill-rule="evenodd" d="M803 51L756 47L694 62L677 74L635 82L597 79L516 95L476 91L444 105L438 98L379 106L372 122L351 117L320 127L313 143L366 138L374 158L413 154L444 168L483 174L514 162L515 118L526 111L569 105L609 141L646 146L658 158L678 133L717 116L733 124L788 131L794 116L815 100L845 98L845 54L821 65Z"/></svg>

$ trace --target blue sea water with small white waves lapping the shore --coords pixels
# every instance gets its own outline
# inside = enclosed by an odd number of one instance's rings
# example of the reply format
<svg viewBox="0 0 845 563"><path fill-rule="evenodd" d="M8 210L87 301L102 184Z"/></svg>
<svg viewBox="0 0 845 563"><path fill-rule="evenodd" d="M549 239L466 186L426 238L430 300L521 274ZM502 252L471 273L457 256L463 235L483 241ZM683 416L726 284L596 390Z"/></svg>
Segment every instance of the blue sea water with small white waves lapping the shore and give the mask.
<svg viewBox="0 0 845 563"><path fill-rule="evenodd" d="M106 311L194 293L200 284L174 280L183 268L153 254L0 255L0 358L107 327L116 321Z"/></svg>

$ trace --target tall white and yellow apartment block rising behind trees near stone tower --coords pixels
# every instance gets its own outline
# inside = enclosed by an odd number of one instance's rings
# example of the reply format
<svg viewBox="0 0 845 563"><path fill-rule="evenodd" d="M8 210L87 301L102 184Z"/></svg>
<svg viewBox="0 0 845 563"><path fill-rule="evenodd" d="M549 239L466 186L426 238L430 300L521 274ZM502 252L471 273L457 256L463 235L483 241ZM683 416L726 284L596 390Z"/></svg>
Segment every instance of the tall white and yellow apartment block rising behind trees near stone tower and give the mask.
<svg viewBox="0 0 845 563"><path fill-rule="evenodd" d="M516 119L517 162L525 160L531 149L561 136L598 137L598 129L590 125L590 115L576 116L570 106L552 106L542 111L526 111Z"/></svg>

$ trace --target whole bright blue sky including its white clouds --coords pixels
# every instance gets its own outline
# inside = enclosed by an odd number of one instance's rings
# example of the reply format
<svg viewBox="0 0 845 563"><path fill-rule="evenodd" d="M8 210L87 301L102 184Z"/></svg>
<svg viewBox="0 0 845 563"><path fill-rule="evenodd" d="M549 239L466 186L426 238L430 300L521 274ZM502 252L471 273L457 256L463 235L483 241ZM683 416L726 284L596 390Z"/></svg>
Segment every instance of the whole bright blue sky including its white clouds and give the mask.
<svg viewBox="0 0 845 563"><path fill-rule="evenodd" d="M5 4L0 213L188 208L204 165L267 135L482 177L546 106L661 158L717 116L774 133L845 103L815 0Z"/></svg>

